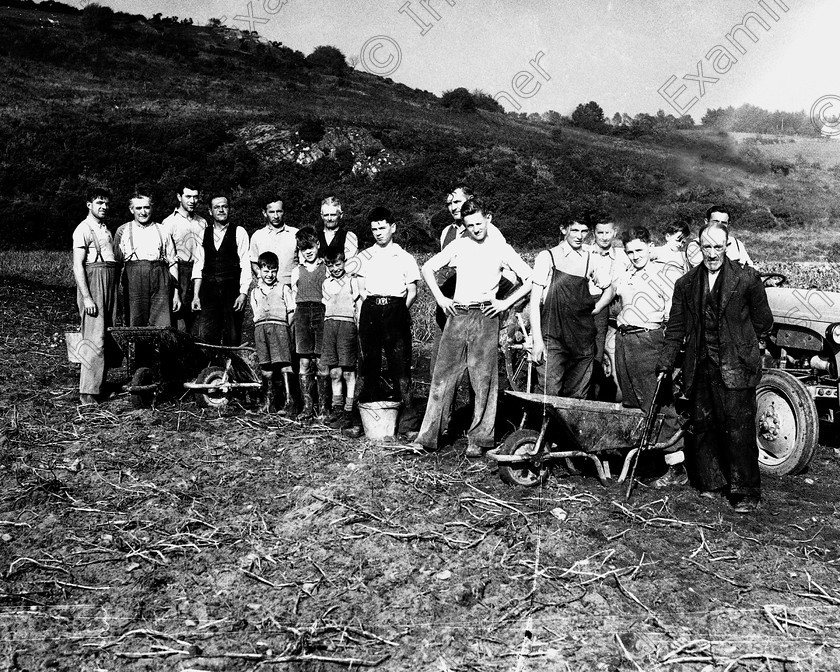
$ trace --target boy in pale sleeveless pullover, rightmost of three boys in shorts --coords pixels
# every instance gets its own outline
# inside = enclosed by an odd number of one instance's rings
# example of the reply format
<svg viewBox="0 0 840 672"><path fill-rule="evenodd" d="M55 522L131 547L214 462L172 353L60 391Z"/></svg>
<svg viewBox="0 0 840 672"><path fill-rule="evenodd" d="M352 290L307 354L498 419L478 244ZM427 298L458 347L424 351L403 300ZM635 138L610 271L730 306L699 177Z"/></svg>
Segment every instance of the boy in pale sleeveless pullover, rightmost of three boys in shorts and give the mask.
<svg viewBox="0 0 840 672"><path fill-rule="evenodd" d="M332 429L348 429L356 395L356 361L358 359L359 287L344 269L344 250L332 250L324 257L329 275L324 280L324 343L321 363L332 379ZM342 379L347 388L342 394Z"/></svg>

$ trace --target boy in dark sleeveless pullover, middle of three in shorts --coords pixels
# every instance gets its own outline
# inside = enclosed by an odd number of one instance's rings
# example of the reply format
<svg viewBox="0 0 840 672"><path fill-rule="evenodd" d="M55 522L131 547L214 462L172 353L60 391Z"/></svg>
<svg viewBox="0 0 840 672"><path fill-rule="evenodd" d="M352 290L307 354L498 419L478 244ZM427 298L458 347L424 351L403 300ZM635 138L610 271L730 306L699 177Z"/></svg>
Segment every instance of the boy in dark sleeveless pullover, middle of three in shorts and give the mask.
<svg viewBox="0 0 840 672"><path fill-rule="evenodd" d="M295 311L295 352L300 359L300 391L303 409L297 416L299 421L311 420L315 416L312 399L313 363L318 378L318 419L327 415L327 387L329 370L321 366L321 343L324 339L323 288L327 269L318 256L318 233L311 226L305 226L296 234L300 265L292 269L292 305Z"/></svg>

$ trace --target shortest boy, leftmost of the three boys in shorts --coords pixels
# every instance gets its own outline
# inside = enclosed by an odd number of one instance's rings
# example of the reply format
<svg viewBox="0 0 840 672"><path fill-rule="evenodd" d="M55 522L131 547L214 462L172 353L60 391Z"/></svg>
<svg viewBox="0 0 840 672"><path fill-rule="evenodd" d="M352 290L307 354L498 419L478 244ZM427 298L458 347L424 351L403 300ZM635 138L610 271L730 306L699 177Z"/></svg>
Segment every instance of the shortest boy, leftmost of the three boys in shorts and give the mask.
<svg viewBox="0 0 840 672"><path fill-rule="evenodd" d="M274 252L263 252L257 263L260 279L251 292L251 309L254 311L254 343L263 379L263 412L273 410L274 372L279 369L286 391L286 405L281 415L291 415L295 408L291 393L292 353L288 326L291 292L288 285L277 281L279 263Z"/></svg>

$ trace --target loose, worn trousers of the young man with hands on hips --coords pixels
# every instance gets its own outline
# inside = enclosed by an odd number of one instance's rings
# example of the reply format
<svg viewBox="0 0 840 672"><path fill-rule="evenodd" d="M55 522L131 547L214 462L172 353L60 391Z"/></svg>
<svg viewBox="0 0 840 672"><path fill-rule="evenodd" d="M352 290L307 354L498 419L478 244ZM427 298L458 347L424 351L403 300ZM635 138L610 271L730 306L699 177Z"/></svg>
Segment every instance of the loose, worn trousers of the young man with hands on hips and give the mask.
<svg viewBox="0 0 840 672"><path fill-rule="evenodd" d="M470 444L493 447L499 395L498 336L499 318L487 317L480 310L460 311L446 320L417 443L437 448L458 382L464 371L469 371L475 398L467 437Z"/></svg>

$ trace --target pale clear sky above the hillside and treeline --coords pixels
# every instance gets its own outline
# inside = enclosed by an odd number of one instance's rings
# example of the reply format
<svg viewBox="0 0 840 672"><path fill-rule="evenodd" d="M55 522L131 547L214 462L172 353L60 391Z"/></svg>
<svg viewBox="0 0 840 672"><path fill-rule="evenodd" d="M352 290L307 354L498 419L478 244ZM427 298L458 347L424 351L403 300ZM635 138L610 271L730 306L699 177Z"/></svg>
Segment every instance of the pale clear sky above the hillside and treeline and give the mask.
<svg viewBox="0 0 840 672"><path fill-rule="evenodd" d="M822 99L823 114L840 113L837 0L99 1L221 18L304 54L332 45L358 69L438 95L481 89L520 112L594 100L608 116L664 109L699 122L708 108L808 112ZM750 13L756 41L728 40Z"/></svg>

